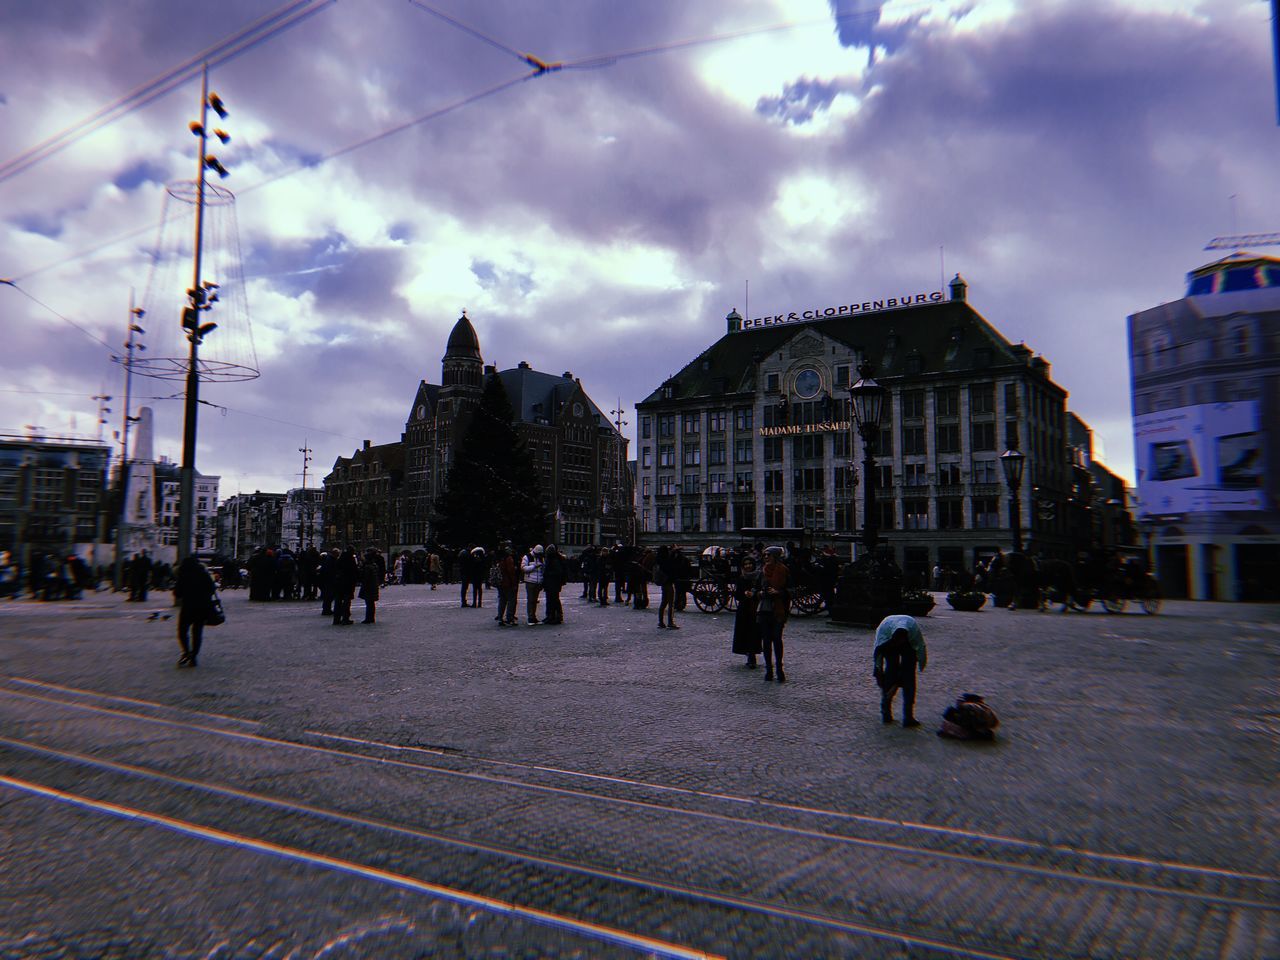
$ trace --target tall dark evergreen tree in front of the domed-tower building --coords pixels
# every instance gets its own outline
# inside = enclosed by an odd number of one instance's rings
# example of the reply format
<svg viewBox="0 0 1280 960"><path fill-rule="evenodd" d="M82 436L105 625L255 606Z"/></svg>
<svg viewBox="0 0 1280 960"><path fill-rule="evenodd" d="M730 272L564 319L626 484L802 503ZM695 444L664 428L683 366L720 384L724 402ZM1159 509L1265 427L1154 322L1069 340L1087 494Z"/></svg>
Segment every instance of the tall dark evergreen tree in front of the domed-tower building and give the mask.
<svg viewBox="0 0 1280 960"><path fill-rule="evenodd" d="M502 379L489 376L435 502L445 543L535 544L545 536L541 484L515 420Z"/></svg>

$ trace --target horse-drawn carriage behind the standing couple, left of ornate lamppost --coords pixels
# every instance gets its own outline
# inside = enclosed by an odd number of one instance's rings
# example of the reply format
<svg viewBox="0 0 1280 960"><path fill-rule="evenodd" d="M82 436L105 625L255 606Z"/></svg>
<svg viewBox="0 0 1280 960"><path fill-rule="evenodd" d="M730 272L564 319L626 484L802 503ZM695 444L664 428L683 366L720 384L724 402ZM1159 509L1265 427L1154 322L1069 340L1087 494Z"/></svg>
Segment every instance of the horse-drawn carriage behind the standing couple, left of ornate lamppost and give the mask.
<svg viewBox="0 0 1280 960"><path fill-rule="evenodd" d="M786 547L783 562L791 572L791 613L810 617L826 609L823 571L813 559L809 527L748 527L739 549L708 547L699 557L698 580L690 585L694 603L704 613L737 609L737 580L742 557L758 543Z"/></svg>

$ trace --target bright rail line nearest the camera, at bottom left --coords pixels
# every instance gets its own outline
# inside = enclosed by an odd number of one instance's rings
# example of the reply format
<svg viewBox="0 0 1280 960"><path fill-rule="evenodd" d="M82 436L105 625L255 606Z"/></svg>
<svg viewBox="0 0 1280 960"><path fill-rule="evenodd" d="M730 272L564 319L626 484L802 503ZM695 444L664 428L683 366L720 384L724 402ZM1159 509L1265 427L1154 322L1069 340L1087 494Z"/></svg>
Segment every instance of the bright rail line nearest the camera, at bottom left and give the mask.
<svg viewBox="0 0 1280 960"><path fill-rule="evenodd" d="M279 844L270 844L264 840L253 840L252 837L244 837L238 833L228 833L225 831L214 829L212 827L202 827L197 823L188 823L187 820L179 820L173 817L164 817L161 814L147 813L146 810L137 810L132 806L122 806L119 804L106 803L105 800L92 800L86 796L79 796L78 794L68 794L61 790L55 790L52 787L46 787L40 783L31 783L24 780L15 780L13 777L0 776L0 786L6 786L10 790L17 790L27 794L33 794L36 796L44 796L59 803L69 804L72 806L79 806L87 810L93 810L95 813L105 813L111 817L119 817L127 820L134 820L140 823L150 823L157 827L164 827L165 829L174 831L177 833L184 833L191 837L197 837L200 840L209 840L215 844L224 844L228 846L241 847L243 850L255 850L262 854L270 854L273 856L280 856L287 860L297 860L306 864L312 864L316 867L324 867L330 870L338 870L340 873L349 873L357 877L364 877L366 879L372 879L379 883L387 883L394 887L402 887L404 890L412 890L419 893L428 893L442 900L451 900L457 904L466 904L467 906L475 906L481 910L488 910L495 914L503 914L509 916L518 916L525 920L531 920L534 923L553 927L561 931L568 931L581 936L586 936L591 940L600 940L609 943L617 943L620 946L631 947L635 950L649 951L658 956L676 957L677 960L723 960L717 955L708 954L701 950L694 950L689 947L680 946L678 943L671 943L662 940L654 940L652 937L645 937L636 933L628 933L626 931L620 931L613 927L604 927L600 924L590 923L588 920L575 920L571 916L561 916L559 914L548 913L545 910L534 910L531 908L518 906L517 904L511 904L504 900L495 900L493 897L484 897L475 893L467 893L466 891L454 890L452 887L443 887L436 883L426 883L413 877L406 877L399 873L390 873L389 870L379 870L374 867L365 867L362 864L352 863L349 860L340 860L334 856L324 856L321 854L310 854L306 850L298 850L296 847L282 846ZM983 955L986 956L986 955Z"/></svg>

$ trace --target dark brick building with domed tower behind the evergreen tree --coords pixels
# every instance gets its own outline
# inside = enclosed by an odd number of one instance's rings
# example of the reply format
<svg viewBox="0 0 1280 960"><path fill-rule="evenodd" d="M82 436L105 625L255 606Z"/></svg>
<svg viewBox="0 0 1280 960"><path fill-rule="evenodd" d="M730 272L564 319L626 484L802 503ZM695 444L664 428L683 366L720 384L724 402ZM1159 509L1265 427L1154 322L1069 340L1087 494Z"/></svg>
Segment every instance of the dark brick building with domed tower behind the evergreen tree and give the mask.
<svg viewBox="0 0 1280 960"><path fill-rule="evenodd" d="M369 445L335 461L325 477L326 536L393 552L435 543L436 499L492 376L502 380L516 431L534 458L548 539L570 548L630 539L627 442L617 425L568 371L545 374L526 362L500 371L485 365L466 312L449 333L440 383L419 383L399 443ZM374 454L365 462L369 451ZM387 483L370 483L375 475Z"/></svg>

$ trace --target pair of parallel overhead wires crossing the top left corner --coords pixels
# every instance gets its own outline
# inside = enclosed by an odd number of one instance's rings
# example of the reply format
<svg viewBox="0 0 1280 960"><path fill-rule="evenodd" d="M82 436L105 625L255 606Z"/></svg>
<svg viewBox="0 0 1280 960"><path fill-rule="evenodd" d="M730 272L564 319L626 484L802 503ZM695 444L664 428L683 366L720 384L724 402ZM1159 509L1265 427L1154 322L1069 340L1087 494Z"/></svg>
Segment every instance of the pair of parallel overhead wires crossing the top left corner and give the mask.
<svg viewBox="0 0 1280 960"><path fill-rule="evenodd" d="M191 58L178 67L165 72L160 77L148 81L141 87L134 88L114 102L100 108L83 120L67 127L60 133L46 138L41 143L29 147L18 156L0 164L0 183L4 183L10 178L17 177L19 173L31 169L36 164L47 160L55 154L83 140L88 134L106 127L110 123L114 123L122 116L127 116L134 110L140 110L166 93L173 92L183 83L192 79L202 69L204 64L215 67L228 63L241 54L252 50L259 44L262 44L276 35L283 33L291 27L310 19L312 15L320 13L323 9L334 3L337 3L337 0L320 0L317 5L312 5L316 4L316 0L293 0L275 14L268 14L266 17L255 20L252 24L238 31L237 33L233 33L227 40L223 40L201 51L195 58ZM255 33L259 33L259 36L253 36Z"/></svg>

